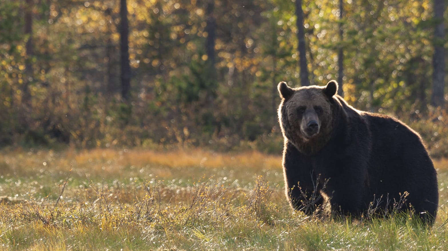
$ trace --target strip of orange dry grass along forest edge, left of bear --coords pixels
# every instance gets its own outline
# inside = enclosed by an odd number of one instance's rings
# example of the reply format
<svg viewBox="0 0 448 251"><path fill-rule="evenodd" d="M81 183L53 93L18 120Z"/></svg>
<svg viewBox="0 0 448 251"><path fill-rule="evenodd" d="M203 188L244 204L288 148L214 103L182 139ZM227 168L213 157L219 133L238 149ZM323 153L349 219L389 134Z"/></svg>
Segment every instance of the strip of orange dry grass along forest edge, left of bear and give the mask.
<svg viewBox="0 0 448 251"><path fill-rule="evenodd" d="M203 170L206 172L204 174L212 174L216 170L229 170L229 174L240 171L251 174L281 173L281 157L258 152L223 154L201 149L170 152L142 149L71 149L64 152L14 149L0 155L0 167L6 170L6 175L51 173L63 177L70 166L78 176L87 174L92 178L137 176L144 179L180 179L179 170L191 169ZM197 174L198 171L193 172L197 178L202 177L202 174Z"/></svg>

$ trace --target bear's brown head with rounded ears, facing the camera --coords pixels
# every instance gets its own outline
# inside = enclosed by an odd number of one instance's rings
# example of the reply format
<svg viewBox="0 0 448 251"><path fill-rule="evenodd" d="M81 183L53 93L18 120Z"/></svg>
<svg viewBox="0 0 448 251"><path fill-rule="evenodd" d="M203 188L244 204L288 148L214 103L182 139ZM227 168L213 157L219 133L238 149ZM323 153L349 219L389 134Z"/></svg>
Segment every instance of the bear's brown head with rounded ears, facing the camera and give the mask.
<svg viewBox="0 0 448 251"><path fill-rule="evenodd" d="M300 88L290 88L280 82L278 90L282 98L279 120L283 136L302 153L321 149L332 130L337 82L332 80L326 86Z"/></svg>

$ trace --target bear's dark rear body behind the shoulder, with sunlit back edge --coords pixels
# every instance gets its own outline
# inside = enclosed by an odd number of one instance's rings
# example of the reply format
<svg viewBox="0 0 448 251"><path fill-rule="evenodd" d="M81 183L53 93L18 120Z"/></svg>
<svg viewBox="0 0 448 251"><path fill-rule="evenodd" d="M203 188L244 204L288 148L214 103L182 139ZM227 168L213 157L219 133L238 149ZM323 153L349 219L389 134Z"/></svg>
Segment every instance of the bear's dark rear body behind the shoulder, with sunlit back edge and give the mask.
<svg viewBox="0 0 448 251"><path fill-rule="evenodd" d="M372 192L385 196L408 191L413 204L422 197L436 202L437 174L418 133L392 117L361 114L371 132L368 172L374 174L370 175Z"/></svg>

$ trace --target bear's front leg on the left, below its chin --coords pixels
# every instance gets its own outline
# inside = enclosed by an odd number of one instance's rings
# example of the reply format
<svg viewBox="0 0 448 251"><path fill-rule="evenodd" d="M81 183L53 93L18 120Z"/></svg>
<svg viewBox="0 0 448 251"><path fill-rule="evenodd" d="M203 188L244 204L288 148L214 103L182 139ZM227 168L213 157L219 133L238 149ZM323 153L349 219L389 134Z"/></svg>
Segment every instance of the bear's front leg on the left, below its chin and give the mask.
<svg viewBox="0 0 448 251"><path fill-rule="evenodd" d="M286 196L291 206L307 215L313 214L323 204L320 194L322 186L311 168L309 157L303 156L290 143L285 144L283 173Z"/></svg>

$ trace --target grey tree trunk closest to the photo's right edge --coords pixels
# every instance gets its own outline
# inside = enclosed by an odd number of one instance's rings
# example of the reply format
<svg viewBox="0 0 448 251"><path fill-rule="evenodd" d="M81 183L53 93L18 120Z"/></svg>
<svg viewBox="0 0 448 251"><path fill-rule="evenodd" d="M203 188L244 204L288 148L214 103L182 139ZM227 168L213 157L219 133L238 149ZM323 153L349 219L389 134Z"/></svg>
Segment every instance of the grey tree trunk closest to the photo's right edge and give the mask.
<svg viewBox="0 0 448 251"><path fill-rule="evenodd" d="M445 50L444 50L444 9L445 0L434 0L434 55L433 55L433 68L432 75L432 95L431 105L443 106L444 105L444 77L445 77Z"/></svg>

